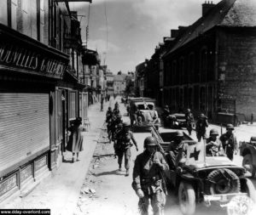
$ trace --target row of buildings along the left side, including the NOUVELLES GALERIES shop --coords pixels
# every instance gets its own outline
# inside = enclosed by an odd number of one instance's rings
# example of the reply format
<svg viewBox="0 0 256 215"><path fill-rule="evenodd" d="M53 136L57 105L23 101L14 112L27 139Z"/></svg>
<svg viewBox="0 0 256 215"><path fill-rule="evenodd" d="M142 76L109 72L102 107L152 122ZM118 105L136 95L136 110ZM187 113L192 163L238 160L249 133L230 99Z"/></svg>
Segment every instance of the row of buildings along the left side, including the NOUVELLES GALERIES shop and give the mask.
<svg viewBox="0 0 256 215"><path fill-rule="evenodd" d="M104 91L79 20L68 0L0 2L0 201L59 167L70 120Z"/></svg>

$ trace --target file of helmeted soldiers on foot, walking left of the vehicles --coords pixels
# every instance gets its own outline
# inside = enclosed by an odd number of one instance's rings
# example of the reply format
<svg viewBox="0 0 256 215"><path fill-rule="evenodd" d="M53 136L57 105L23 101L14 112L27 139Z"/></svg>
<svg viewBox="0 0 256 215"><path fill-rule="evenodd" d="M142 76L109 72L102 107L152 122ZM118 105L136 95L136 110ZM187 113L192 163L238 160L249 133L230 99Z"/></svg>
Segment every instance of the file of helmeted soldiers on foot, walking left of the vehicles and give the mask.
<svg viewBox="0 0 256 215"><path fill-rule="evenodd" d="M108 137L113 141L115 155L118 156L119 171L121 171L122 160L125 156L125 176L129 175L131 161L131 146L134 144L136 149L137 142L130 131L130 125L122 122L118 103L113 110L108 108L106 114L108 123ZM148 207L151 204L154 214L162 214L166 204L166 184L163 172L168 170L168 165L157 151L157 142L151 136L144 140L143 153L136 158L133 169L132 188L139 197L139 208L141 214L148 214Z"/></svg>

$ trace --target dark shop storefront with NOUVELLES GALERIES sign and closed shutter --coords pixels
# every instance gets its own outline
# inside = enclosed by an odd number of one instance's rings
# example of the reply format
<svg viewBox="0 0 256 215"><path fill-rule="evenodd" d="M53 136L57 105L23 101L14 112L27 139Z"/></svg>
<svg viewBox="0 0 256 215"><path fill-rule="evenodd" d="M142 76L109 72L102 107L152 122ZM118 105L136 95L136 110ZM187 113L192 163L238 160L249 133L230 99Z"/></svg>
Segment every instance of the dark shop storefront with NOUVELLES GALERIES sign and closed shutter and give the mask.
<svg viewBox="0 0 256 215"><path fill-rule="evenodd" d="M0 201L49 175L60 161L82 88L63 78L68 61L0 25Z"/></svg>

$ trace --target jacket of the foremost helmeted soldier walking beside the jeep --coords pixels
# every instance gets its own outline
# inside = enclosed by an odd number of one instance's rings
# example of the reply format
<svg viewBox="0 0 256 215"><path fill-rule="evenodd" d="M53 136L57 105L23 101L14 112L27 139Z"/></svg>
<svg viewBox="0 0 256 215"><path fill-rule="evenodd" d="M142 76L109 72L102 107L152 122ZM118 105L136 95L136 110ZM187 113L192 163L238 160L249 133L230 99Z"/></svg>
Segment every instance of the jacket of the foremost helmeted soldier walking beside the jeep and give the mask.
<svg viewBox="0 0 256 215"><path fill-rule="evenodd" d="M159 159L163 164L161 169L158 164L154 163L156 159ZM164 157L159 151L156 151L153 156L149 155L147 150L137 156L133 168L133 183L134 190L142 189L148 192L150 187L152 190L158 186L158 181L162 179L161 171L167 171L169 169Z"/></svg>

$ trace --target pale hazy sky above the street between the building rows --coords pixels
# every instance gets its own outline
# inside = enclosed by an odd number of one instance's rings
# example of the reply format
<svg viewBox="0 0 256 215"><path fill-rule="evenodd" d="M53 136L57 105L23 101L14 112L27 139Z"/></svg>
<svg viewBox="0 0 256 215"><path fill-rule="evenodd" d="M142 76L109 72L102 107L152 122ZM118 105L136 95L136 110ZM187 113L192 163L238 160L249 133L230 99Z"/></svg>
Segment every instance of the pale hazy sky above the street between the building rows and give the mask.
<svg viewBox="0 0 256 215"><path fill-rule="evenodd" d="M88 48L96 50L101 64L116 74L135 71L138 64L151 58L163 37L171 36L171 29L198 20L202 3L205 0L92 0L91 4L69 6L86 16L79 17L83 41L89 18Z"/></svg>

